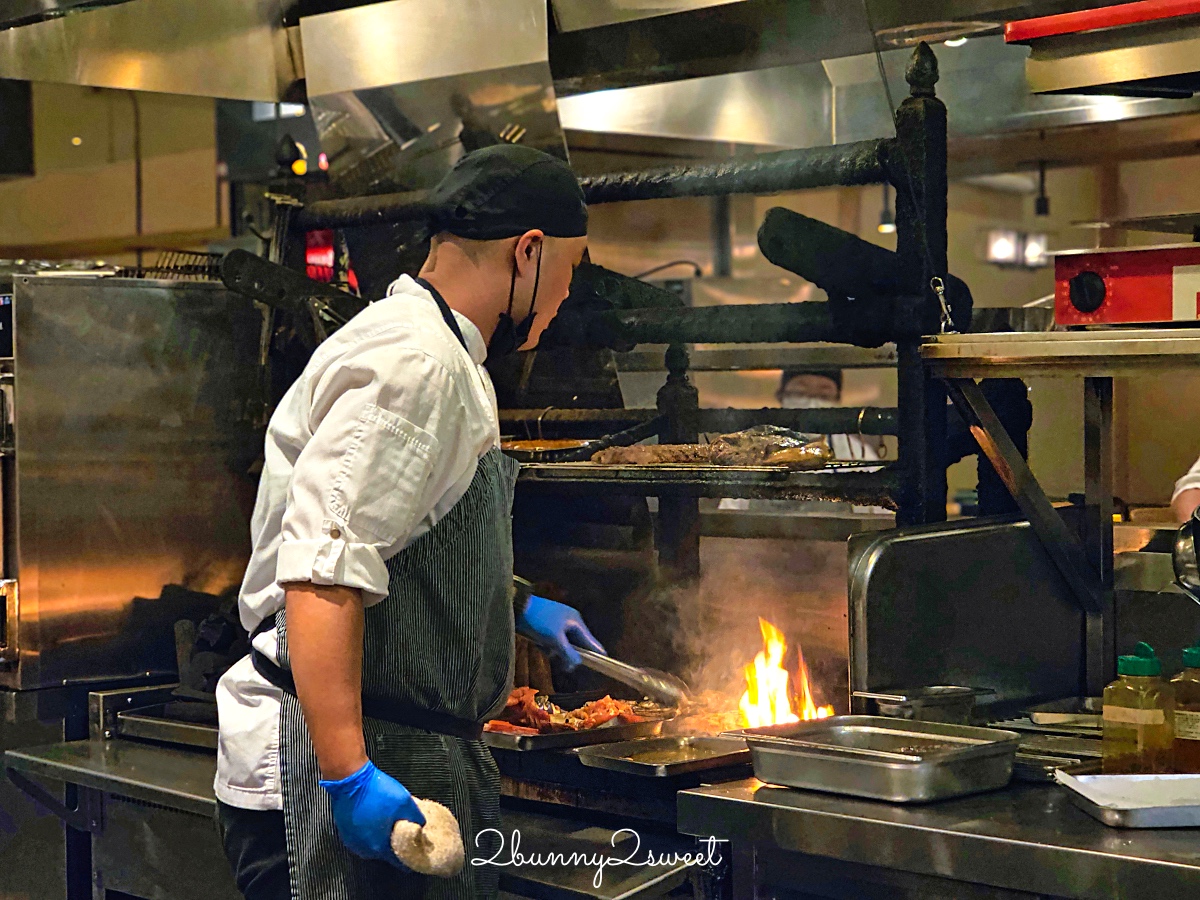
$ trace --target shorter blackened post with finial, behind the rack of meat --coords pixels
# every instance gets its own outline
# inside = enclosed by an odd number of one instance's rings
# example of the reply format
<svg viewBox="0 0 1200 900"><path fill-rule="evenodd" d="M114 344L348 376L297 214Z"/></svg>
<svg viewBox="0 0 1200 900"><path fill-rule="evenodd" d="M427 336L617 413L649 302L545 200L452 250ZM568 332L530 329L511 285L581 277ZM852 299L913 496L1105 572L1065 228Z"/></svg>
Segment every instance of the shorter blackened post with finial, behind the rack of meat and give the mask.
<svg viewBox="0 0 1200 900"><path fill-rule="evenodd" d="M700 442L700 392L688 379L688 352L671 344L666 354L667 383L659 389L659 412L666 424L664 444ZM700 500L696 497L659 498L659 565L673 578L700 575Z"/></svg>

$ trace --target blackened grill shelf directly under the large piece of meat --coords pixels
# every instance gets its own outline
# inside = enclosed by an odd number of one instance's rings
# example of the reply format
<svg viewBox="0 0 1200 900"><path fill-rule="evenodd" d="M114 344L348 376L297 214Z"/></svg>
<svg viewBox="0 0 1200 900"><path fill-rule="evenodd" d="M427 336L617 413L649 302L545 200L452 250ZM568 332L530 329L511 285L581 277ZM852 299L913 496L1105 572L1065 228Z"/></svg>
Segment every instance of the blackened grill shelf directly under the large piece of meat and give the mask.
<svg viewBox="0 0 1200 900"><path fill-rule="evenodd" d="M596 466L528 463L522 485L574 491L604 490L642 497L733 497L788 500L845 500L893 505L900 487L895 466L835 463L822 469L778 466Z"/></svg>

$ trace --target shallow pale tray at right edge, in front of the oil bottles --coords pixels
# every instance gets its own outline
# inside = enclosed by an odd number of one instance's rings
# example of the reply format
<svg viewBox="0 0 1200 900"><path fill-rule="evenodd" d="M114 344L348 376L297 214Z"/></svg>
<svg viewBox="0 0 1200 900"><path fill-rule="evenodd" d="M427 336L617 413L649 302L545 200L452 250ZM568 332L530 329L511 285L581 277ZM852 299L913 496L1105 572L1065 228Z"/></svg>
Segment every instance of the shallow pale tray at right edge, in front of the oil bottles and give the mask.
<svg viewBox="0 0 1200 900"><path fill-rule="evenodd" d="M1072 803L1112 828L1200 828L1200 775L1055 774Z"/></svg>

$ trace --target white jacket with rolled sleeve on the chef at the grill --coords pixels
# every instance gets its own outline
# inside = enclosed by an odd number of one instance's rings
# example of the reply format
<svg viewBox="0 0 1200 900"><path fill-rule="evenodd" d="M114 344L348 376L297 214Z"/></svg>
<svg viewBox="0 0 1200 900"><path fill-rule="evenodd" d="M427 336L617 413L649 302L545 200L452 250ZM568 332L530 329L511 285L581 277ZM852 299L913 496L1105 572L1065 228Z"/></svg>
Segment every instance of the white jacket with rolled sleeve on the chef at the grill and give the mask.
<svg viewBox="0 0 1200 900"><path fill-rule="evenodd" d="M283 607L287 582L342 584L371 606L388 595L384 560L428 532L467 492L499 443L484 338L408 276L317 348L266 430L238 601L253 631ZM270 630L254 647L276 659ZM216 794L282 808L278 688L239 660L217 684Z"/></svg>

